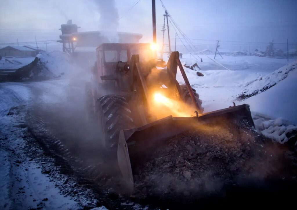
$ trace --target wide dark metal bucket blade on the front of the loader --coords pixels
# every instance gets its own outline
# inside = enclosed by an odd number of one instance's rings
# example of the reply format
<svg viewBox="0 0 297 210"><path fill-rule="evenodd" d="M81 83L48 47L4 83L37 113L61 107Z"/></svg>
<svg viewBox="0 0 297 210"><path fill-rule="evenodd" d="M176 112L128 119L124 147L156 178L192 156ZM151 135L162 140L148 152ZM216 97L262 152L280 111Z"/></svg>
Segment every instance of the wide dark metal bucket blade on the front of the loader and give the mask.
<svg viewBox="0 0 297 210"><path fill-rule="evenodd" d="M133 171L139 163L145 163L152 158L158 147L166 146L169 139L192 127L202 124L211 125L217 120L226 119L239 124L246 121L254 126L249 105L242 104L214 112L199 114L199 117L172 117L171 115L147 125L129 130L121 130L118 145L118 163L127 190L133 190Z"/></svg>

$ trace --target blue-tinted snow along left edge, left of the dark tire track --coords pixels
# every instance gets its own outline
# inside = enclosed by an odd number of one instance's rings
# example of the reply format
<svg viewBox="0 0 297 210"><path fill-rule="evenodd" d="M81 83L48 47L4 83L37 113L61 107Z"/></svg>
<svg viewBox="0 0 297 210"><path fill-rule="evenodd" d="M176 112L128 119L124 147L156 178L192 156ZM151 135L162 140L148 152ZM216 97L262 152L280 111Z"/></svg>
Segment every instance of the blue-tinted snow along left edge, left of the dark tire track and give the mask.
<svg viewBox="0 0 297 210"><path fill-rule="evenodd" d="M0 84L0 209L82 209L77 201L61 193L49 174L42 173L40 163L26 154L26 128L20 125L24 123L30 91L16 83L2 87ZM24 97L16 100L7 93L10 89Z"/></svg>

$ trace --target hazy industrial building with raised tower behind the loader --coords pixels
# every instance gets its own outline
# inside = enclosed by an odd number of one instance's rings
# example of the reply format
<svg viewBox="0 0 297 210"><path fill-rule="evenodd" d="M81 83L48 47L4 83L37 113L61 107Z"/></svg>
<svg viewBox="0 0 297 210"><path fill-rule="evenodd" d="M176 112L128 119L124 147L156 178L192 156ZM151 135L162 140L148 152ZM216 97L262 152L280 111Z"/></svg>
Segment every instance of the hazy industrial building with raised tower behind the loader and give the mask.
<svg viewBox="0 0 297 210"><path fill-rule="evenodd" d="M103 43L139 43L142 34L110 31L78 32L78 26L68 20L61 25L60 40L63 52L75 58L78 64L89 68L96 61L96 48Z"/></svg>

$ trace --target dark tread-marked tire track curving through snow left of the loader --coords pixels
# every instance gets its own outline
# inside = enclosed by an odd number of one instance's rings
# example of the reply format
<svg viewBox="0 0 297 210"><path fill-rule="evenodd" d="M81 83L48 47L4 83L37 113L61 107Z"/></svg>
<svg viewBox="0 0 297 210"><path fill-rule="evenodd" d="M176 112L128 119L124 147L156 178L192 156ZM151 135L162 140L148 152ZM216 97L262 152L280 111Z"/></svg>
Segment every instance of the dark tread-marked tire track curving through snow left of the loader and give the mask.
<svg viewBox="0 0 297 210"><path fill-rule="evenodd" d="M100 185L102 184L101 179L103 177L102 171L100 171L100 165L86 164L82 159L72 155L61 139L48 131L41 110L37 109L37 107L43 103L43 94L50 94L51 91L44 90L44 86L37 88L36 84L31 83L19 83L18 85L29 89L28 100L25 100L18 92L10 88L2 88L11 100L16 101L18 104L26 104L27 113L25 120L30 133L42 147L45 154L55 159L56 163L60 166L60 171L65 174L75 174L78 177L79 184L94 190L94 197L100 198L100 205L110 206L111 208L142 209L141 206L132 201L127 201L127 199L110 198L108 190L102 189Z"/></svg>

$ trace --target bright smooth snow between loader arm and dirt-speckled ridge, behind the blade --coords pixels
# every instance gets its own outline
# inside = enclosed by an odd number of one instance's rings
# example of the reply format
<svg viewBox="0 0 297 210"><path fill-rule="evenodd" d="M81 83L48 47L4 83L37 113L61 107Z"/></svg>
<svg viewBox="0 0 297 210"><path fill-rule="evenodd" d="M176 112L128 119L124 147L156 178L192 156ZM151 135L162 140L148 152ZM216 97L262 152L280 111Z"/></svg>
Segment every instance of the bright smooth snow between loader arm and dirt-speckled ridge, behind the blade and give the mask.
<svg viewBox="0 0 297 210"><path fill-rule="evenodd" d="M204 76L198 77L197 71L185 67L184 70L190 84L200 95L205 112L233 106L232 102L236 101L236 96L243 89L244 84L260 76L259 73L249 71L201 70ZM179 69L176 79L184 84Z"/></svg>

